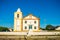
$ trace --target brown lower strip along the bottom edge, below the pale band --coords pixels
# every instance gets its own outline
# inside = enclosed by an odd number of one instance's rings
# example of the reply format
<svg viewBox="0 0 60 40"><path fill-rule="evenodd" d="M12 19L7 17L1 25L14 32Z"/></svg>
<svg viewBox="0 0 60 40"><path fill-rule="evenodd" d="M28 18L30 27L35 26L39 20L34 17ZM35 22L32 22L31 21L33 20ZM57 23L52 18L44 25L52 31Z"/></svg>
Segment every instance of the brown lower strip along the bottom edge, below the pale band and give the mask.
<svg viewBox="0 0 60 40"><path fill-rule="evenodd" d="M0 40L60 40L60 36L19 36L19 35L0 35Z"/></svg>

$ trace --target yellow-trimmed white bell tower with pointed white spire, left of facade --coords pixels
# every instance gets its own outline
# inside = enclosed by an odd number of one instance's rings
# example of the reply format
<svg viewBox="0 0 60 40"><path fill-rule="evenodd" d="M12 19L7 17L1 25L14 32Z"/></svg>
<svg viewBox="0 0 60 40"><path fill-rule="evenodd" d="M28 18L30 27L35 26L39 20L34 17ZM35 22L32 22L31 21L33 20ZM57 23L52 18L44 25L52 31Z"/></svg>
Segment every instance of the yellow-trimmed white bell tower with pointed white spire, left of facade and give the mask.
<svg viewBox="0 0 60 40"><path fill-rule="evenodd" d="M22 12L20 8L14 13L14 31L22 31Z"/></svg>

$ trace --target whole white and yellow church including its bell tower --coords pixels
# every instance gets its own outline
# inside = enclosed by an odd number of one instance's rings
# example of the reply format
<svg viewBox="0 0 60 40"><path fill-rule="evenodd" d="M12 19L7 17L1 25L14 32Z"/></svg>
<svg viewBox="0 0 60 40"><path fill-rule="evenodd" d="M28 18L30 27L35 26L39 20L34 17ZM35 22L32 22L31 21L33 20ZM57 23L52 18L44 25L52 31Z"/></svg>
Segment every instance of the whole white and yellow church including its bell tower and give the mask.
<svg viewBox="0 0 60 40"><path fill-rule="evenodd" d="M14 32L40 31L40 19L29 14L23 17L21 9L14 12Z"/></svg>

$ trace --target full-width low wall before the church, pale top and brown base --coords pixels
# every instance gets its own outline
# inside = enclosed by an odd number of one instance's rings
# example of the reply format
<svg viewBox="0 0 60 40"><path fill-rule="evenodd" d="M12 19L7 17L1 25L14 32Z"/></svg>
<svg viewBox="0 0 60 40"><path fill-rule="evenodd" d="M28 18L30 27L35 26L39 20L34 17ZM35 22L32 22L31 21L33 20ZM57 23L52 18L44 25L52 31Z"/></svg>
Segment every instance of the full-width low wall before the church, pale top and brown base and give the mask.
<svg viewBox="0 0 60 40"><path fill-rule="evenodd" d="M0 32L0 40L60 40L60 32Z"/></svg>

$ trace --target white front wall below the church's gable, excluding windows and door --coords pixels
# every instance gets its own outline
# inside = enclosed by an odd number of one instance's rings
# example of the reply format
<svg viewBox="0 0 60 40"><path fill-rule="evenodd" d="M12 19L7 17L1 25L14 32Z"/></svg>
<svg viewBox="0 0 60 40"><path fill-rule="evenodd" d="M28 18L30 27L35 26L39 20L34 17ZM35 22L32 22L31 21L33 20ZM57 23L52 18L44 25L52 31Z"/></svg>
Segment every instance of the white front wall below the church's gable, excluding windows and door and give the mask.
<svg viewBox="0 0 60 40"><path fill-rule="evenodd" d="M27 21L27 23L25 23ZM34 23L36 21L36 24ZM23 30L25 30L25 26L27 26L27 30L29 30L29 25L32 25L32 30L38 30L38 20L23 20ZM34 29L36 26L37 29Z"/></svg>

